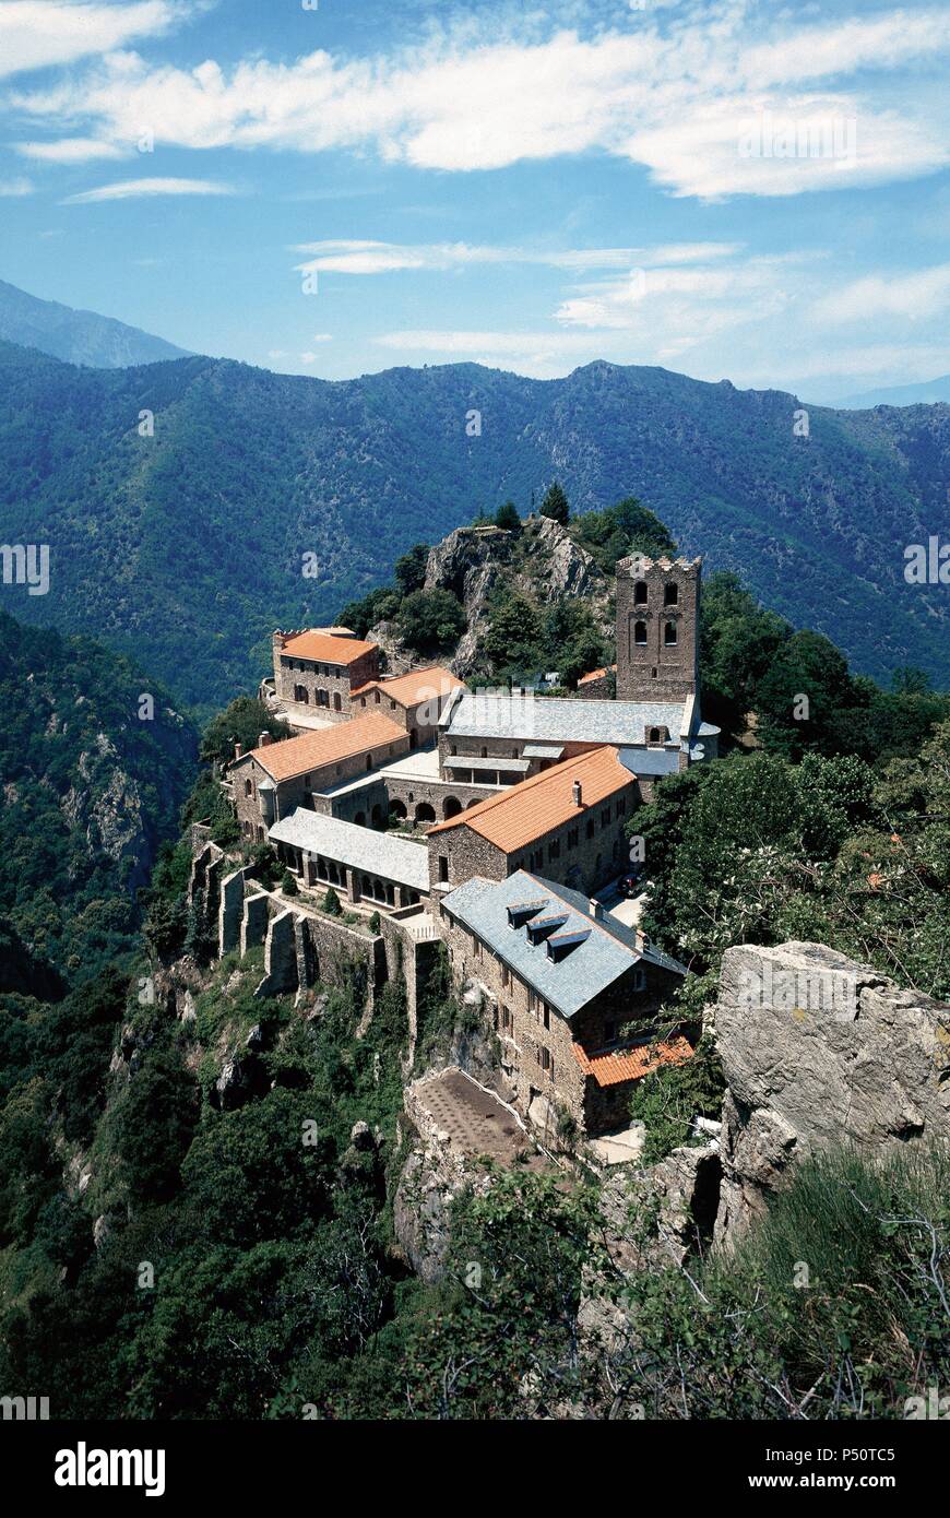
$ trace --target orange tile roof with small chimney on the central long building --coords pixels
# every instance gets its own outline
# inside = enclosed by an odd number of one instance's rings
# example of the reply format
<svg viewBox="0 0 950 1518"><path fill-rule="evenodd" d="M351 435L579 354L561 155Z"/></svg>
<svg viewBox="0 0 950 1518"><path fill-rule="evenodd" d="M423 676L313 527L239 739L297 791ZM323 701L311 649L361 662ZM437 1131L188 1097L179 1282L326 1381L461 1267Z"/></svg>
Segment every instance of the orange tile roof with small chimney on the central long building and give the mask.
<svg viewBox="0 0 950 1518"><path fill-rule="evenodd" d="M575 780L581 783L580 806L574 800ZM634 776L621 764L619 750L610 745L592 748L542 770L501 795L470 806L448 823L437 823L426 836L448 832L449 827L470 827L496 849L514 853L572 817L584 817L590 808L634 783Z"/></svg>

